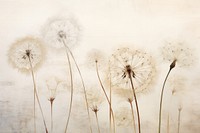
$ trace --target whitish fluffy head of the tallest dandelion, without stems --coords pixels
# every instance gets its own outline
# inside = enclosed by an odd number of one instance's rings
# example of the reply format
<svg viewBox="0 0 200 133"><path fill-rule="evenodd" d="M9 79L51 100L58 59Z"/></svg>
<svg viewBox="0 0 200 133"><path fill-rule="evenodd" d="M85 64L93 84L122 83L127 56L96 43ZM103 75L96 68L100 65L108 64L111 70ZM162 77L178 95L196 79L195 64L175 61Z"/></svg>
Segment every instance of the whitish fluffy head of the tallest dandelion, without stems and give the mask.
<svg viewBox="0 0 200 133"><path fill-rule="evenodd" d="M43 29L43 37L55 48L63 48L63 41L71 48L78 43L80 26L72 17L52 18Z"/></svg>

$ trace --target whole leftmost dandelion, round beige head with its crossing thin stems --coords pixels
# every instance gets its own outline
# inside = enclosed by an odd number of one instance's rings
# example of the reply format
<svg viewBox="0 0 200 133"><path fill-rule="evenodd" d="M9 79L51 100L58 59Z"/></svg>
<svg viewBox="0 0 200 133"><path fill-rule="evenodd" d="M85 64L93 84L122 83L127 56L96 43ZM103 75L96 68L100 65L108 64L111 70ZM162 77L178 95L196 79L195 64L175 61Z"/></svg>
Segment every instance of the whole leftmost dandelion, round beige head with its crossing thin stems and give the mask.
<svg viewBox="0 0 200 133"><path fill-rule="evenodd" d="M36 70L44 60L43 42L34 37L25 37L16 41L8 51L9 62L14 68L24 73L31 73L34 88L34 132L36 132L36 100L42 114L43 123L46 133L48 133L47 125L45 122L42 106L37 93L37 86L35 81L34 70Z"/></svg>

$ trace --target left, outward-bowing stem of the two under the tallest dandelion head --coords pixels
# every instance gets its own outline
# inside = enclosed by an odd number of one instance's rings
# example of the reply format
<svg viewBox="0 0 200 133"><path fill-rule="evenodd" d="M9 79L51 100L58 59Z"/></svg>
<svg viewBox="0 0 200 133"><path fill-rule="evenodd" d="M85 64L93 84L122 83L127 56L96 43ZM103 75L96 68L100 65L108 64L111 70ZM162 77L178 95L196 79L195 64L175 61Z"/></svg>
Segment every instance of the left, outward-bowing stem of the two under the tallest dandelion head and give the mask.
<svg viewBox="0 0 200 133"><path fill-rule="evenodd" d="M69 125L69 120L70 120L70 116L71 116L71 111L72 111L72 103L73 103L73 93L74 93L74 85L73 85L73 76L72 76L72 68L71 68L71 62L70 62L70 58L69 58L69 54L68 51L66 50L66 55L67 55L67 60L68 60L68 65L69 65L69 71L70 71L70 86L71 86L71 96L70 96L70 105L69 105L69 113L68 113L68 117L67 117L67 123L65 126L65 133L67 132L67 128Z"/></svg>

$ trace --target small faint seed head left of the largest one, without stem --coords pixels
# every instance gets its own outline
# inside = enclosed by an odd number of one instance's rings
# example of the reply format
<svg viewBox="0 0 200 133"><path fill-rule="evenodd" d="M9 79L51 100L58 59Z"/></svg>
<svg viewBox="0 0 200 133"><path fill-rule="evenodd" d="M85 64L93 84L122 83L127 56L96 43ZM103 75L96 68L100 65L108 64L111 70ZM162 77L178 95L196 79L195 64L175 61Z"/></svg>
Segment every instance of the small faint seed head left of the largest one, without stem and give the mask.
<svg viewBox="0 0 200 133"><path fill-rule="evenodd" d="M98 63L98 67L103 67L106 63L105 54L100 50L92 49L87 55L86 63L90 68L95 68L96 63Z"/></svg>

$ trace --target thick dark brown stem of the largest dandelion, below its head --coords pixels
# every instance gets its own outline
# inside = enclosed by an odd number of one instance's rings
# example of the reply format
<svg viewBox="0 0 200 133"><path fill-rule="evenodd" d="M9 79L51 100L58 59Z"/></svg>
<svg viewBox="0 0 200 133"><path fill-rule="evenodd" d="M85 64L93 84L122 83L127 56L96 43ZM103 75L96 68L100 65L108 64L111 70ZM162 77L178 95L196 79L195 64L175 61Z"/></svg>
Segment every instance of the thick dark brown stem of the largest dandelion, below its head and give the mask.
<svg viewBox="0 0 200 133"><path fill-rule="evenodd" d="M132 77L131 77L131 74L129 73L129 79L131 81L131 87L132 87L132 91L133 91L133 96L134 96L134 101L135 101L135 106L136 106L136 111L137 111L137 118L138 118L138 130L139 130L139 133L141 133L141 127L140 127L140 112L139 112L139 107L138 107L138 102L137 102L137 97L136 97L136 94L135 94L135 89L134 89L134 86L133 86L133 80L132 80Z"/></svg>

